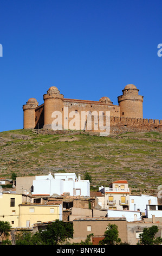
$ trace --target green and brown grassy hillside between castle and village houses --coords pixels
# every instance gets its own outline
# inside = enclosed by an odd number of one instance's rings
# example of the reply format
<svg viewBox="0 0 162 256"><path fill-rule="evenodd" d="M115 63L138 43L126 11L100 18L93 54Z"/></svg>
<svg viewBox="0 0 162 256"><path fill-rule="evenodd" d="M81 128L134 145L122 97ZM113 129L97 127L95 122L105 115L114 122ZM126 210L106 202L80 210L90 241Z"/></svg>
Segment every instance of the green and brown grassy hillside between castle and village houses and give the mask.
<svg viewBox="0 0 162 256"><path fill-rule="evenodd" d="M129 187L157 189L161 175L162 133L125 133L116 137L37 135L36 131L0 133L0 176L88 171L92 185L126 179Z"/></svg>

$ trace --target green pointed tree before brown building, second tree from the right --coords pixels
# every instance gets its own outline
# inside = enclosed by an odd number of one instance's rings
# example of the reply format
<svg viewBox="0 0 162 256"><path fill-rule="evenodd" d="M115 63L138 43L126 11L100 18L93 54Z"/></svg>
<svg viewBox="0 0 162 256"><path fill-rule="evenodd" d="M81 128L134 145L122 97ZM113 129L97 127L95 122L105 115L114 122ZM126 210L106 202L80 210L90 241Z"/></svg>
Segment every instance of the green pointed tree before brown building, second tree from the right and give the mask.
<svg viewBox="0 0 162 256"><path fill-rule="evenodd" d="M119 245L121 243L121 239L118 237L118 226L115 224L108 225L104 236L105 238L99 242L99 245Z"/></svg>

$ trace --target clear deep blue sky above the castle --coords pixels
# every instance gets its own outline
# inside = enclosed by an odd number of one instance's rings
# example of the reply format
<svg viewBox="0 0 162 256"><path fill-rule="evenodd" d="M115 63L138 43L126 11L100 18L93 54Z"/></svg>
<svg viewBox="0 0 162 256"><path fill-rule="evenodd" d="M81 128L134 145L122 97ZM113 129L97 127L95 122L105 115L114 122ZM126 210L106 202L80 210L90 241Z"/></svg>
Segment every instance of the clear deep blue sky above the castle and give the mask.
<svg viewBox="0 0 162 256"><path fill-rule="evenodd" d="M144 118L161 117L162 5L154 0L1 0L0 131L23 128L30 97L117 97L132 83Z"/></svg>

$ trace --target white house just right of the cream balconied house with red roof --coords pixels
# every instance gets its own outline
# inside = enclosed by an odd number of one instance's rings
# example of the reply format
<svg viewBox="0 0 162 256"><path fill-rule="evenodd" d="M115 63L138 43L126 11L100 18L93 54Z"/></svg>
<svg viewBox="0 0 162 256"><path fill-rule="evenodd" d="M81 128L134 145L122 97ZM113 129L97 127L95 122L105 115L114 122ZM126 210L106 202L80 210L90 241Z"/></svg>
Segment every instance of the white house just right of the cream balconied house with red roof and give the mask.
<svg viewBox="0 0 162 256"><path fill-rule="evenodd" d="M129 210L141 211L146 214L147 204L158 204L158 198L146 194L129 195Z"/></svg>

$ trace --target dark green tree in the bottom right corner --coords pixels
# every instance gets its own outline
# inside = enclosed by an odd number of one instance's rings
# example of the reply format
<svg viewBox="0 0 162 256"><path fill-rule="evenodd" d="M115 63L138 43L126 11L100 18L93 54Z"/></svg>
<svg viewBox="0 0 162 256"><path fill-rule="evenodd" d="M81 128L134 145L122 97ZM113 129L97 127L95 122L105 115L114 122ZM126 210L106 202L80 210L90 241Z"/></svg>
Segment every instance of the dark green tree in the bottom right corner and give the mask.
<svg viewBox="0 0 162 256"><path fill-rule="evenodd" d="M140 239L137 245L160 245L162 238L160 236L155 238L155 234L158 231L159 228L156 225L152 225L150 228L144 228L143 233L139 235Z"/></svg>

